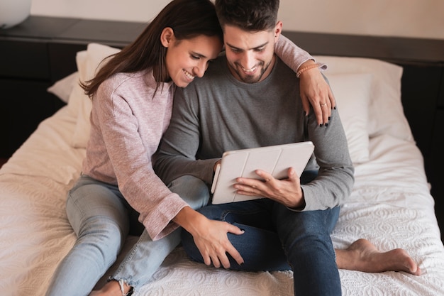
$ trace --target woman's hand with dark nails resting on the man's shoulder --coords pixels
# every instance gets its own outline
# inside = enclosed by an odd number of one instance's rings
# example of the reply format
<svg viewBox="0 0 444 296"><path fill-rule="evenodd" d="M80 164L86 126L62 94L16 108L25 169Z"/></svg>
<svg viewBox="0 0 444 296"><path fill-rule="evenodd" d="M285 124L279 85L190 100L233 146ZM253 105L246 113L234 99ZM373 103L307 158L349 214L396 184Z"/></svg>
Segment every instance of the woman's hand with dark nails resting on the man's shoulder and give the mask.
<svg viewBox="0 0 444 296"><path fill-rule="evenodd" d="M304 62L299 67L309 67L314 64L313 60ZM330 86L317 67L311 68L301 73L299 77L299 88L301 90L302 107L306 114L310 112L310 104L313 106L314 114L318 124L328 124L331 116L331 109L335 108L336 102Z"/></svg>

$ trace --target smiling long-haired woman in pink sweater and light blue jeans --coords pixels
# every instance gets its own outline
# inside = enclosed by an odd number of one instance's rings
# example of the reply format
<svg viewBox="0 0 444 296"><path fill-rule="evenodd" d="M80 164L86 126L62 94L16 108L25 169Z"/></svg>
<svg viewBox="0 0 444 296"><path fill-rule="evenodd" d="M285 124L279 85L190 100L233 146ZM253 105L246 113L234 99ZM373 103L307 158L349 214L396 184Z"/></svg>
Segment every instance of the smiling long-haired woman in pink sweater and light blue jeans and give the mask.
<svg viewBox="0 0 444 296"><path fill-rule="evenodd" d="M125 295L145 284L179 243L174 230L199 227L189 222L203 217L194 209L208 201L193 200L200 194L192 192L192 185L188 192L172 193L150 160L170 122L175 87L202 77L222 46L211 1L174 0L131 45L109 57L94 79L82 84L92 99L91 134L82 176L67 197L77 241L55 271L48 296L89 295L116 261L133 213L145 226L142 243L128 253L109 283L91 295Z"/></svg>

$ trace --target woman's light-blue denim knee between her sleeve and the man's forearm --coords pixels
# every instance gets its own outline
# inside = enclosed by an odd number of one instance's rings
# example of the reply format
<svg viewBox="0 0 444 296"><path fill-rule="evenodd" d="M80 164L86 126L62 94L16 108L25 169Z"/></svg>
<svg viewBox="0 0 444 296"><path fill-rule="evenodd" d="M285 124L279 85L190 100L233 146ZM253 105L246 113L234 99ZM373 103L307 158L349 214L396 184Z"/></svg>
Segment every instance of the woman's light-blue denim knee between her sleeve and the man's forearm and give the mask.
<svg viewBox="0 0 444 296"><path fill-rule="evenodd" d="M209 187L197 177L190 175L178 177L168 187L172 192L179 194L192 209L204 207L210 199Z"/></svg>

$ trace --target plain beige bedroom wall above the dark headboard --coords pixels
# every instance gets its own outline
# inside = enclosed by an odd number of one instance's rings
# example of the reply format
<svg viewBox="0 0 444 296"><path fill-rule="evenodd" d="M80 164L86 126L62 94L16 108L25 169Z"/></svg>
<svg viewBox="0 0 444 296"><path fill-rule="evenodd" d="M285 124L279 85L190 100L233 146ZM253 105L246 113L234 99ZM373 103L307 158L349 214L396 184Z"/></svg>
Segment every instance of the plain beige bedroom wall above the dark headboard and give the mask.
<svg viewBox="0 0 444 296"><path fill-rule="evenodd" d="M150 21L170 0L33 0L31 14ZM281 0L284 29L444 39L443 0Z"/></svg>

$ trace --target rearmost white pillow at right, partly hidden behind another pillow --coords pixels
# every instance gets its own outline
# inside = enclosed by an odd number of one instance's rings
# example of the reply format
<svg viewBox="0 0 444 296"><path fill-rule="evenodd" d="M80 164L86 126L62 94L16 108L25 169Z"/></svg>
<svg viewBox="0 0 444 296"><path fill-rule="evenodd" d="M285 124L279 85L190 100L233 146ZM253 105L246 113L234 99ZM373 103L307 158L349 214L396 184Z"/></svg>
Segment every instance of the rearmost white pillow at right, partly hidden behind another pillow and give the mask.
<svg viewBox="0 0 444 296"><path fill-rule="evenodd" d="M316 56L328 65L326 76L333 74L369 73L373 75L370 93L368 133L370 138L388 134L414 141L401 104L402 67L364 57Z"/></svg>

